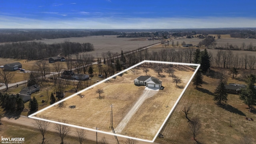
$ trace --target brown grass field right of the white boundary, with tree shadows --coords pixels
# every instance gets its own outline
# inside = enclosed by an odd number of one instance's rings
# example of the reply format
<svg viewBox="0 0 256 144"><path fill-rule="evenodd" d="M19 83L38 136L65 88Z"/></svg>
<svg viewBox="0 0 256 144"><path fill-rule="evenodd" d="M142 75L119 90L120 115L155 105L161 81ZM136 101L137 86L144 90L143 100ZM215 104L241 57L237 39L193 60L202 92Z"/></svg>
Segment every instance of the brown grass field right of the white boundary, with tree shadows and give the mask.
<svg viewBox="0 0 256 144"><path fill-rule="evenodd" d="M215 72L228 72L225 69L211 69ZM157 138L155 142L161 144L195 143L188 127L188 120L182 112L185 106L191 106L188 117L198 116L202 123L201 132L196 136L196 140L199 142L204 144L240 144L245 143L242 139L244 136L248 136L252 140L251 143L255 143L255 120L248 121L246 117L256 119L256 112L249 112L248 106L236 94L228 94L226 108L217 106L212 100L212 93L219 80L206 76L203 77L203 80L204 84L198 90L190 84L163 132L164 138ZM244 84L230 76L227 81ZM230 127L230 118L232 127Z"/></svg>

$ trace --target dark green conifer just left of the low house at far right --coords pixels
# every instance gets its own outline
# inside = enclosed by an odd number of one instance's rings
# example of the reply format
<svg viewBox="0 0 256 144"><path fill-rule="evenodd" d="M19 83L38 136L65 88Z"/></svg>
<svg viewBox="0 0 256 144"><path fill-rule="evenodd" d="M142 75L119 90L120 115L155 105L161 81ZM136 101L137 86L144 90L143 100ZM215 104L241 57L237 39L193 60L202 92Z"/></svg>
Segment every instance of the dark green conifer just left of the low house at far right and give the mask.
<svg viewBox="0 0 256 144"><path fill-rule="evenodd" d="M228 93L225 90L225 85L223 82L220 82L220 84L214 90L213 100L217 101L217 104L222 105L223 102L226 103L228 101L227 96Z"/></svg>

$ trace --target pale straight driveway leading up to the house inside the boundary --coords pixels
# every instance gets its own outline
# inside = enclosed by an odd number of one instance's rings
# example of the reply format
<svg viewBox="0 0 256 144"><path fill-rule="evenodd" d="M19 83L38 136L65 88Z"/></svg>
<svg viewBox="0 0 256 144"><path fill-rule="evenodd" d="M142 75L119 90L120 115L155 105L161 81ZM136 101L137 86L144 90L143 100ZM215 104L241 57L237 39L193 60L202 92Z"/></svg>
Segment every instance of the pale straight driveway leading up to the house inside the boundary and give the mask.
<svg viewBox="0 0 256 144"><path fill-rule="evenodd" d="M143 102L157 94L158 91L154 90L144 90L143 94L140 96L138 101L134 104L134 106L131 108L131 110L126 114L126 116L122 119L122 121L116 126L115 132L120 134L122 130L125 128L126 124L130 121L132 116L137 112L137 110L140 108L140 106L143 104Z"/></svg>

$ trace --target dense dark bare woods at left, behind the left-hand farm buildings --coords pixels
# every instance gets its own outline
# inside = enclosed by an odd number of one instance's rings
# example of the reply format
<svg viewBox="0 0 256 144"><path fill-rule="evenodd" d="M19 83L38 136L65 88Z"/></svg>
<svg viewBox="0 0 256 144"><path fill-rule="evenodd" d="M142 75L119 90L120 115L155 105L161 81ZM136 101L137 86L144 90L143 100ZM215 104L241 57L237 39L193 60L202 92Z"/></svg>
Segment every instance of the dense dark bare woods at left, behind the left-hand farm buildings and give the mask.
<svg viewBox="0 0 256 144"><path fill-rule="evenodd" d="M77 52L94 50L93 44L78 42L62 42L45 44L43 42L15 42L0 45L0 58L17 58L42 60L52 56L67 56Z"/></svg>

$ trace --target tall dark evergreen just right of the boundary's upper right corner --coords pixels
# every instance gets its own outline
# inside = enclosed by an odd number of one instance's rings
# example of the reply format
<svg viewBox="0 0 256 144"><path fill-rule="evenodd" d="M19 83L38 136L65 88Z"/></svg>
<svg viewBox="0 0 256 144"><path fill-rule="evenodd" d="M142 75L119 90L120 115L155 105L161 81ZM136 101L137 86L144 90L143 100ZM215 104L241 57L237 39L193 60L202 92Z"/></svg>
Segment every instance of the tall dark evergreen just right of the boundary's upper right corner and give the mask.
<svg viewBox="0 0 256 144"><path fill-rule="evenodd" d="M206 49L204 49L204 51L200 52L200 64L201 64L200 70L202 70L202 72L207 72L207 70L211 66L210 56Z"/></svg>

